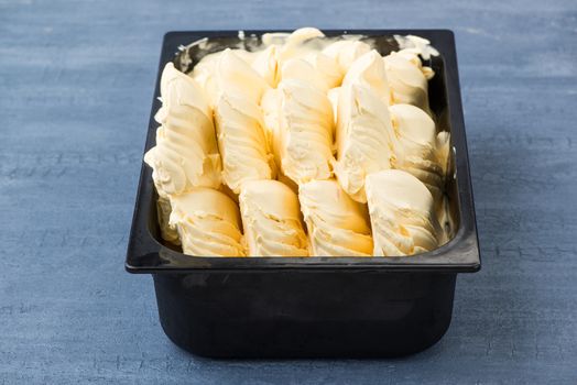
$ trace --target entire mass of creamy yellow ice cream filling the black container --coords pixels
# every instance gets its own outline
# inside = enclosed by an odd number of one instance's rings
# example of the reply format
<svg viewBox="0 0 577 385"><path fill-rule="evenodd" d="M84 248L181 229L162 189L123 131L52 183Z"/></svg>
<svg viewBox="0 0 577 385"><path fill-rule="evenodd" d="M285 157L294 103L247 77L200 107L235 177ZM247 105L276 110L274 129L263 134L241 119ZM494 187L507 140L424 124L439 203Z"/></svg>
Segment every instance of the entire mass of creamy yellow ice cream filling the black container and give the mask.
<svg viewBox="0 0 577 385"><path fill-rule="evenodd" d="M411 255L446 241L450 135L420 58L436 52L404 36L383 57L360 37L305 28L206 55L189 75L166 66L145 154L165 240L239 256Z"/></svg>

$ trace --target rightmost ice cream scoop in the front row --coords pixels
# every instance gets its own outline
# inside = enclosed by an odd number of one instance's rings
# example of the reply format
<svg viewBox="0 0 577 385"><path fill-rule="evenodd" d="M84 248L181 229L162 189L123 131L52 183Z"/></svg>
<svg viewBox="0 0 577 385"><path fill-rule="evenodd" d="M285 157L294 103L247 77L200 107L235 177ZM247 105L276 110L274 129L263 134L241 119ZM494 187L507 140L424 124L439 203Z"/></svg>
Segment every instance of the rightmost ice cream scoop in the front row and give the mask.
<svg viewBox="0 0 577 385"><path fill-rule="evenodd" d="M413 255L438 246L440 228L433 196L421 180L406 172L388 169L367 176L364 188L373 255Z"/></svg>

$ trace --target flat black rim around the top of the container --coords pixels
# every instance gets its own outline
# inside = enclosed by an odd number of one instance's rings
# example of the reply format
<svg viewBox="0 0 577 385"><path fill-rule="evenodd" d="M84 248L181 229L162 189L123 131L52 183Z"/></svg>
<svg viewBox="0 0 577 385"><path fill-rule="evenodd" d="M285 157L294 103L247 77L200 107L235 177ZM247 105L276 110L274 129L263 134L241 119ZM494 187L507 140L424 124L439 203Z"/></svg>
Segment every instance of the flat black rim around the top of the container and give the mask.
<svg viewBox="0 0 577 385"><path fill-rule="evenodd" d="M261 35L269 32L290 32L288 30L243 30L246 34ZM465 121L460 98L457 70L455 36L450 30L323 30L328 35L361 34L367 36L418 35L431 41L440 53L445 63L444 76L447 94L451 144L456 154L455 172L457 196L459 201L459 228L455 237L431 252L413 256L395 257L213 257L188 256L161 244L150 232L150 202L155 196L152 172L142 162L138 186L132 227L128 242L124 267L129 273L192 273L199 271L219 271L226 273L262 271L275 272L286 270L314 272L437 272L437 273L473 273L480 270L475 206L470 182ZM204 37L231 37L239 31L173 31L164 35L159 73L153 96L153 103L146 135L144 153L154 145L156 123L154 113L160 107L160 77L164 65L172 61L179 47Z"/></svg>

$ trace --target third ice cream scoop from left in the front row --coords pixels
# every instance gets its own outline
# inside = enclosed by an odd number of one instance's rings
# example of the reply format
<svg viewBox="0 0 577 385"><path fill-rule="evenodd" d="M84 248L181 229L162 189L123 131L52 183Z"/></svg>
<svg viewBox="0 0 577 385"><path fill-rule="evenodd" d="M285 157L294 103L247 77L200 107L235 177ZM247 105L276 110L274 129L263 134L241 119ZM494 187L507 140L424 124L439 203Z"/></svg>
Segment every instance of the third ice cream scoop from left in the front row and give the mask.
<svg viewBox="0 0 577 385"><path fill-rule="evenodd" d="M301 185L298 199L313 255L372 254L367 208L353 201L335 179L313 180Z"/></svg>

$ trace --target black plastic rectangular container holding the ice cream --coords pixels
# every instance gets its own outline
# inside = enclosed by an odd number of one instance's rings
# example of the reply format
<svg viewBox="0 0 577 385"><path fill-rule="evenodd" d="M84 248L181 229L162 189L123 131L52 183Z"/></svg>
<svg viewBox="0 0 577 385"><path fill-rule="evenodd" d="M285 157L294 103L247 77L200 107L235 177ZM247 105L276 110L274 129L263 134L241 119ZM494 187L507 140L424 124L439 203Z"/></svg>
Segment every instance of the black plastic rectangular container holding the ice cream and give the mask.
<svg viewBox="0 0 577 385"><path fill-rule="evenodd" d="M197 46L249 44L237 31L170 32L164 36L145 151L154 145L159 81L168 61L190 70ZM160 238L151 169L142 166L126 267L152 274L162 327L178 346L214 358L396 356L424 350L447 330L457 273L480 268L475 208L453 32L446 30L325 31L373 37L381 53L394 34L426 37L440 56L429 99L438 123L451 132L453 177L447 194L456 235L412 257L187 256ZM205 45L206 46L206 45ZM181 50L178 50L181 47ZM190 62L189 58L193 61Z"/></svg>

